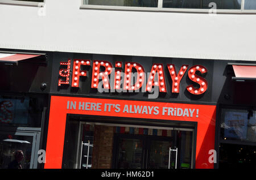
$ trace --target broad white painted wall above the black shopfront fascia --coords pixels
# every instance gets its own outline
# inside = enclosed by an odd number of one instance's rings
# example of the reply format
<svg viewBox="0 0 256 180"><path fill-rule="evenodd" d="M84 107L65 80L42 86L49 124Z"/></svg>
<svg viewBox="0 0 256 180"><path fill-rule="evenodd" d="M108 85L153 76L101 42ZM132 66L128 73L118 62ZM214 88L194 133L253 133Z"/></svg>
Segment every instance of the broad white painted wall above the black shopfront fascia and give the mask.
<svg viewBox="0 0 256 180"><path fill-rule="evenodd" d="M0 48L256 61L256 14L80 9L0 4ZM45 16L42 16L45 10Z"/></svg>

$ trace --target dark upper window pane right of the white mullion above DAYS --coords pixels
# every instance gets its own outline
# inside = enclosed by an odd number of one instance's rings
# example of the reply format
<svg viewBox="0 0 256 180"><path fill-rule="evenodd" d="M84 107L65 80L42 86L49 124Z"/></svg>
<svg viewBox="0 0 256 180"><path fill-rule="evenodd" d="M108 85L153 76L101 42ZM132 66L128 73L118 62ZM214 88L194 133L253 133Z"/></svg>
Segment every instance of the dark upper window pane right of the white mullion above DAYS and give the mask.
<svg viewBox="0 0 256 180"><path fill-rule="evenodd" d="M240 10L242 0L163 0L163 7L167 8L212 8L211 2L216 3L217 9Z"/></svg>

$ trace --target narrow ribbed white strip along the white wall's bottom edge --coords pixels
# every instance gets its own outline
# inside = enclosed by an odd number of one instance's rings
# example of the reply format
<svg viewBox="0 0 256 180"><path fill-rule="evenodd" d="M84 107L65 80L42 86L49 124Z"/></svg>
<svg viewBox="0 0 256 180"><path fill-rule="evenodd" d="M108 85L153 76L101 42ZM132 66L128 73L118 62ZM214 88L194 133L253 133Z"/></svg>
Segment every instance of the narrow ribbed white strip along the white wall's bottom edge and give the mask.
<svg viewBox="0 0 256 180"><path fill-rule="evenodd" d="M158 52L158 51L142 51L142 50L106 50L106 49L90 49L80 46L44 46L44 45L16 45L1 44L0 49L22 49L22 50L40 50L50 52L69 52L69 53L87 53L87 54L109 54L109 55L134 55L145 57L164 57L164 58L189 58L189 59L217 59L217 60L233 60L233 61L256 61L254 54L205 54L205 53L182 53L182 52Z"/></svg>

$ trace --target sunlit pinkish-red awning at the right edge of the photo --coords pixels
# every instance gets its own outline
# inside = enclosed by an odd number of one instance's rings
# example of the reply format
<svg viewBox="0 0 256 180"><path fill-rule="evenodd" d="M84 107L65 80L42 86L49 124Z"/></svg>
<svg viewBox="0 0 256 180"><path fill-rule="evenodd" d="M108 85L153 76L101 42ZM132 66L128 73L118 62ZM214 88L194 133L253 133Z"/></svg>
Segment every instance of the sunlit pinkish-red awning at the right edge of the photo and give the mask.
<svg viewBox="0 0 256 180"><path fill-rule="evenodd" d="M233 69L237 78L256 78L256 66L233 65Z"/></svg>

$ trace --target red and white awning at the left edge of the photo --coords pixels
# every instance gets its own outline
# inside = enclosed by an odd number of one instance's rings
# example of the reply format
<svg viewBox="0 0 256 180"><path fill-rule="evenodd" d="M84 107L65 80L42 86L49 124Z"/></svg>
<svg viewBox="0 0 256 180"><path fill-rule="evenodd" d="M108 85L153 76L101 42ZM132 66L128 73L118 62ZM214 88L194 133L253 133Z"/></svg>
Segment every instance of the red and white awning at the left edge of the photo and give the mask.
<svg viewBox="0 0 256 180"><path fill-rule="evenodd" d="M7 54L7 53L0 53L0 61L2 62L9 62L15 63L24 59L30 59L34 57L38 57L38 54Z"/></svg>

